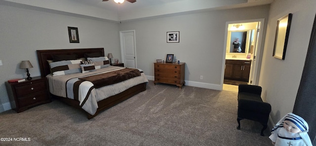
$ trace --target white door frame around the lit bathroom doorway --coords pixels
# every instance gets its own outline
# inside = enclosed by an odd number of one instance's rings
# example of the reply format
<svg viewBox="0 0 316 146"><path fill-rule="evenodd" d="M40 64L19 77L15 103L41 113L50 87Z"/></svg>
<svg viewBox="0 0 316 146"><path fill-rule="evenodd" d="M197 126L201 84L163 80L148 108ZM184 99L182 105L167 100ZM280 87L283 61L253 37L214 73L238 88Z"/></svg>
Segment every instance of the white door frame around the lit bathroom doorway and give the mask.
<svg viewBox="0 0 316 146"><path fill-rule="evenodd" d="M225 73L225 60L226 60L226 47L227 47L227 37L228 37L228 25L229 24L236 24L236 23L250 23L250 22L260 22L260 27L259 27L259 40L258 40L258 44L256 47L256 51L255 51L255 63L251 63L251 74L250 76L252 77L252 85L257 85L258 82L258 78L259 78L259 61L261 60L260 58L260 54L261 54L261 47L262 47L262 39L263 39L263 31L264 31L264 24L265 24L265 19L251 19L251 20L239 20L239 21L228 21L226 22L226 26L225 26L225 37L224 37L224 51L223 51L223 66L222 66L222 79L221 79L221 87L223 88L223 84L224 84L224 73ZM250 78L249 78L250 79ZM250 82L250 80L249 80Z"/></svg>

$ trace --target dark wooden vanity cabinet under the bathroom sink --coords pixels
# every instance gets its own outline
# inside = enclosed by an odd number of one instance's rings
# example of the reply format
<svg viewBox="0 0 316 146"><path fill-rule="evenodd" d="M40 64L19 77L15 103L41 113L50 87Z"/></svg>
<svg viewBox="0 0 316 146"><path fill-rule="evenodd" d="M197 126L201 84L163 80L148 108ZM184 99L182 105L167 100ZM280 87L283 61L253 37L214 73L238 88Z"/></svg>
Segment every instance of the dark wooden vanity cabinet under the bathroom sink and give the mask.
<svg viewBox="0 0 316 146"><path fill-rule="evenodd" d="M250 66L248 60L226 60L224 78L248 82Z"/></svg>

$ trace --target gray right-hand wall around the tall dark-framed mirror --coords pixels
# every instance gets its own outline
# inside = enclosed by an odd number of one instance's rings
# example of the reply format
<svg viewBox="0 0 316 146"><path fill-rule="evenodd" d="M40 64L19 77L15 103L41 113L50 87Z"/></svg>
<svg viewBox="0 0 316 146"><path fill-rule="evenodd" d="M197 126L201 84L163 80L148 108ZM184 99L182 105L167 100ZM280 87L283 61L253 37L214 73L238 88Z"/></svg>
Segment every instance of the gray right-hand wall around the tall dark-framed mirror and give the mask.
<svg viewBox="0 0 316 146"><path fill-rule="evenodd" d="M259 85L263 98L271 104L272 121L276 123L292 112L306 59L316 0L275 0L271 4ZM285 60L272 56L276 21L293 13ZM314 97L315 98L315 97Z"/></svg>

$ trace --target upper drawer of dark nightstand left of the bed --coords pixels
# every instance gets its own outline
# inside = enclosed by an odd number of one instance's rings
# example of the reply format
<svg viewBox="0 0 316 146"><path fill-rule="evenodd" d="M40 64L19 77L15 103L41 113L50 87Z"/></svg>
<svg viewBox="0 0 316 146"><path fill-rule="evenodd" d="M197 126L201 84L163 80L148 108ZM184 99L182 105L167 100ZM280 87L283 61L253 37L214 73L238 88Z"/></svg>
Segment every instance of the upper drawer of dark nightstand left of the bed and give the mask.
<svg viewBox="0 0 316 146"><path fill-rule="evenodd" d="M47 87L46 87L45 82L41 81L41 82L32 82L31 84L16 86L15 90L16 90L16 94L19 98L19 97L24 96L24 95L28 95L28 94L32 94L32 93L46 90L46 88Z"/></svg>

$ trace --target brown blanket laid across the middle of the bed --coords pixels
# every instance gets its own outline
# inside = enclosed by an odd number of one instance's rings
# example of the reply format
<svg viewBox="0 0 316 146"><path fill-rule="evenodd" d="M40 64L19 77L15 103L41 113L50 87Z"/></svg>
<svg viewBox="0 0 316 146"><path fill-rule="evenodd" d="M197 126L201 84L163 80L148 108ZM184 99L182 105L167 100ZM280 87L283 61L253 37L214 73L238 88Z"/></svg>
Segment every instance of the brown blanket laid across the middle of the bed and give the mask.
<svg viewBox="0 0 316 146"><path fill-rule="evenodd" d="M97 75L91 75L87 77L81 77L79 79L90 81L93 83L95 88L100 88L103 86L115 84L136 76L140 76L140 72L137 69L121 69L118 71L113 71L109 73L102 73Z"/></svg>

